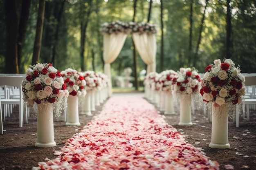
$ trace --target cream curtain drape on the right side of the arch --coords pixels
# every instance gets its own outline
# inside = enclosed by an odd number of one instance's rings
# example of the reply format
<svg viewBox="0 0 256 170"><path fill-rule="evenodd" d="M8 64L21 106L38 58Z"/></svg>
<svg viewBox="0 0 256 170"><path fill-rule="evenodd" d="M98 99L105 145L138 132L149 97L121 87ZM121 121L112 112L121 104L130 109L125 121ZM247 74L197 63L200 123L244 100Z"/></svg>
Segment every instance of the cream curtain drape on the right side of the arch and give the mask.
<svg viewBox="0 0 256 170"><path fill-rule="evenodd" d="M157 44L155 34L132 33L132 39L141 59L147 64L147 74L156 72Z"/></svg>

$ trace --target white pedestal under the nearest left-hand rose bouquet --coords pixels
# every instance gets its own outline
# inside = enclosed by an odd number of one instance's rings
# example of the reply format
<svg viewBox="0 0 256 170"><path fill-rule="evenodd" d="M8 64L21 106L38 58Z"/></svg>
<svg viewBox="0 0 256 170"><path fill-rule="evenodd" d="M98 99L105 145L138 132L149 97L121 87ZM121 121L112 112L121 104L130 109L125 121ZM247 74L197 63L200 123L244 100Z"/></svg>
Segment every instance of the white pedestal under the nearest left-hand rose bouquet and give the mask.
<svg viewBox="0 0 256 170"><path fill-rule="evenodd" d="M56 146L54 141L53 108L51 104L38 104L37 139L35 146Z"/></svg>

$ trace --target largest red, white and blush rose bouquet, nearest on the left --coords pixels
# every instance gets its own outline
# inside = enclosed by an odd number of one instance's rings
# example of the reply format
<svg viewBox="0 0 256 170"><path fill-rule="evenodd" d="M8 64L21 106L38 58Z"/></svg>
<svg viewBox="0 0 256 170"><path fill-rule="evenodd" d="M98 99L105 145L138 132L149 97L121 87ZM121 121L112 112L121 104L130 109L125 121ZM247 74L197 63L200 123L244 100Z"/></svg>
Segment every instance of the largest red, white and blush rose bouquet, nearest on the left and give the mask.
<svg viewBox="0 0 256 170"><path fill-rule="evenodd" d="M34 104L53 104L56 117L67 107L68 91L60 71L50 63L37 63L26 71L22 81L23 99L30 106Z"/></svg>

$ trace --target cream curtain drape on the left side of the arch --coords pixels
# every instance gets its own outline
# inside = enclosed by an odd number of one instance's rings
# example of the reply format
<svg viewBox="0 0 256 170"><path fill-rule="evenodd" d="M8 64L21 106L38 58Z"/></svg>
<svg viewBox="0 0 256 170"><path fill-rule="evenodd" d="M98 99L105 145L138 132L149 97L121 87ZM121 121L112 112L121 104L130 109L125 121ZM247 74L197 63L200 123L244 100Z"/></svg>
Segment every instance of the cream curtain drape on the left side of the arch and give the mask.
<svg viewBox="0 0 256 170"><path fill-rule="evenodd" d="M125 33L104 33L103 35L103 60L104 60L104 73L108 75L108 97L112 96L112 81L111 81L111 66L119 55L127 34Z"/></svg>

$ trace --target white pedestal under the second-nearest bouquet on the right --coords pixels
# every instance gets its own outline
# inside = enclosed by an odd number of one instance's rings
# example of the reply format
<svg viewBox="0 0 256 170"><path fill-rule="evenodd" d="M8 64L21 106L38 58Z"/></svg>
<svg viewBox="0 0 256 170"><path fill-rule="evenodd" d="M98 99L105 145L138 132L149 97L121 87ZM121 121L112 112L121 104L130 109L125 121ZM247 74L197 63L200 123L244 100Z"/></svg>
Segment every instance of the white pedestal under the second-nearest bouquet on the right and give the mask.
<svg viewBox="0 0 256 170"><path fill-rule="evenodd" d="M191 126L191 95L180 95L180 126Z"/></svg>

